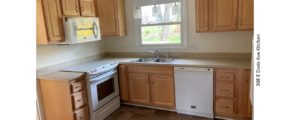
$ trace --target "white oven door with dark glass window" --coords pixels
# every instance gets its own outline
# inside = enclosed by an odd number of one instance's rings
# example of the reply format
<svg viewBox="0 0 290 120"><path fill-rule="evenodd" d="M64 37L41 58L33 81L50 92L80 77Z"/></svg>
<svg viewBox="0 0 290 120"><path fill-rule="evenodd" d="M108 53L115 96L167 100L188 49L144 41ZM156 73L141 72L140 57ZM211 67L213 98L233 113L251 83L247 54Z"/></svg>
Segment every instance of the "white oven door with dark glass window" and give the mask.
<svg viewBox="0 0 290 120"><path fill-rule="evenodd" d="M119 95L118 74L112 70L90 80L93 112Z"/></svg>

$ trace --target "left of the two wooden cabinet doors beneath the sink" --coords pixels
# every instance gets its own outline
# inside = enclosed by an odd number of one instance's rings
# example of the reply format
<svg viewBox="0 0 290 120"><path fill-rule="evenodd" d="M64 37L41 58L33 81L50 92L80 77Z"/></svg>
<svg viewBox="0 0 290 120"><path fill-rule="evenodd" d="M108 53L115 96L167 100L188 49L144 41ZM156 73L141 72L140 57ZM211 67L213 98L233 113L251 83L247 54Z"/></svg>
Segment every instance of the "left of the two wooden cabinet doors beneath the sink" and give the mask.
<svg viewBox="0 0 290 120"><path fill-rule="evenodd" d="M148 74L130 73L130 100L136 103L149 104L149 78Z"/></svg>

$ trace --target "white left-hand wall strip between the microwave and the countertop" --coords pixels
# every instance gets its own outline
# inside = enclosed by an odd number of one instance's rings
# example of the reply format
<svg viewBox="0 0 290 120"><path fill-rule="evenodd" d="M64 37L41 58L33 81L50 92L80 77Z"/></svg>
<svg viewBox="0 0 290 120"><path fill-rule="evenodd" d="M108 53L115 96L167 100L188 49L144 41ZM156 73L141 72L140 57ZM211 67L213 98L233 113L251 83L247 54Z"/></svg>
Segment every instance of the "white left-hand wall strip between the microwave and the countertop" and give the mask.
<svg viewBox="0 0 290 120"><path fill-rule="evenodd" d="M104 53L104 42L37 46L37 69Z"/></svg>

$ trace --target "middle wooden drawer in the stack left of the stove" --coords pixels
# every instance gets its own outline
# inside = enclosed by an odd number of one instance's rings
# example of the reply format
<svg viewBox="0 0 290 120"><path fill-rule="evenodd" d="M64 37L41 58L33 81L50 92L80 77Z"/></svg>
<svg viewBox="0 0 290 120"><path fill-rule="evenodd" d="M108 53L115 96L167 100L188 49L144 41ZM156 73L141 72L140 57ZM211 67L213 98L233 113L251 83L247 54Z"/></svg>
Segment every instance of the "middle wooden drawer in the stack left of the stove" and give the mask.
<svg viewBox="0 0 290 120"><path fill-rule="evenodd" d="M74 106L74 109L78 109L86 104L86 93L85 91L80 91L73 93L72 95L72 103Z"/></svg>

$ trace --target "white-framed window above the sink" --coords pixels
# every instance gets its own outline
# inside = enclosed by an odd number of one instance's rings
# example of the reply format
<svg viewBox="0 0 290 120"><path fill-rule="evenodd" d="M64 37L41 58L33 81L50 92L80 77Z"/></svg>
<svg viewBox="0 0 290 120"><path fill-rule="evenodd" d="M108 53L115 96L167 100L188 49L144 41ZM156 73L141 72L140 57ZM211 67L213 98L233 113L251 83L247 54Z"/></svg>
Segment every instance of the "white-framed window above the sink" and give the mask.
<svg viewBox="0 0 290 120"><path fill-rule="evenodd" d="M185 47L184 6L183 0L136 0L136 8L141 11L141 18L135 19L138 45Z"/></svg>

